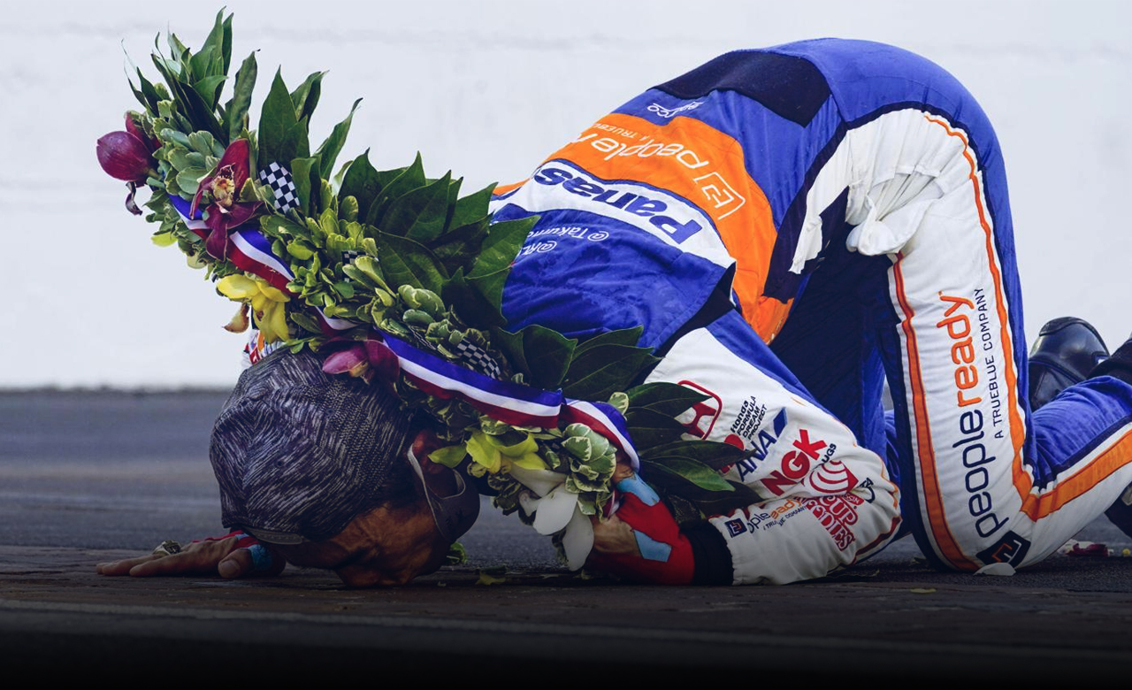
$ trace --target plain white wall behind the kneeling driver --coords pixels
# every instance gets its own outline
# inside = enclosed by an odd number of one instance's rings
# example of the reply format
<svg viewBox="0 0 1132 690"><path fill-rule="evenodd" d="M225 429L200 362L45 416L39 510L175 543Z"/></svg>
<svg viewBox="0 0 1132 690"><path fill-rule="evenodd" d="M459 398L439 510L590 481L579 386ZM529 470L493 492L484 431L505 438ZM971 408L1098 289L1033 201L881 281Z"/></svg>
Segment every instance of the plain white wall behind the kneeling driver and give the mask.
<svg viewBox="0 0 1132 690"><path fill-rule="evenodd" d="M233 304L122 208L95 140L136 108L122 48L148 65L166 25L190 46L197 3L6 3L0 18L0 387L228 385ZM814 36L921 53L979 99L1011 182L1026 322L1075 314L1115 347L1132 331L1132 3L1120 0L615 2L229 0L233 62L258 49L298 84L328 69L321 140L363 96L342 160L420 150L468 189L525 177L648 86L726 50ZM180 10L180 11L178 11ZM234 74L235 65L233 65ZM147 70L151 77L154 71ZM258 101L257 101L258 103ZM252 121L258 119L254 107Z"/></svg>

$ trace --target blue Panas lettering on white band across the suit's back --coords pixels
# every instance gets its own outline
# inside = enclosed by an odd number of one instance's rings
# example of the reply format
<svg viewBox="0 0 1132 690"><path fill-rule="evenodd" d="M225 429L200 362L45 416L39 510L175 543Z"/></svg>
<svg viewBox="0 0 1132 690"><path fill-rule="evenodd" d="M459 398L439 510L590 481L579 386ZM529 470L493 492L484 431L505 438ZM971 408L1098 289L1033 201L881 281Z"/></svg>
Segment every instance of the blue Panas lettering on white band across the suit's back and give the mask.
<svg viewBox="0 0 1132 690"><path fill-rule="evenodd" d="M643 185L607 182L556 163L540 168L533 179L567 193L568 207L626 221L677 245L704 228L704 216L691 205Z"/></svg>

